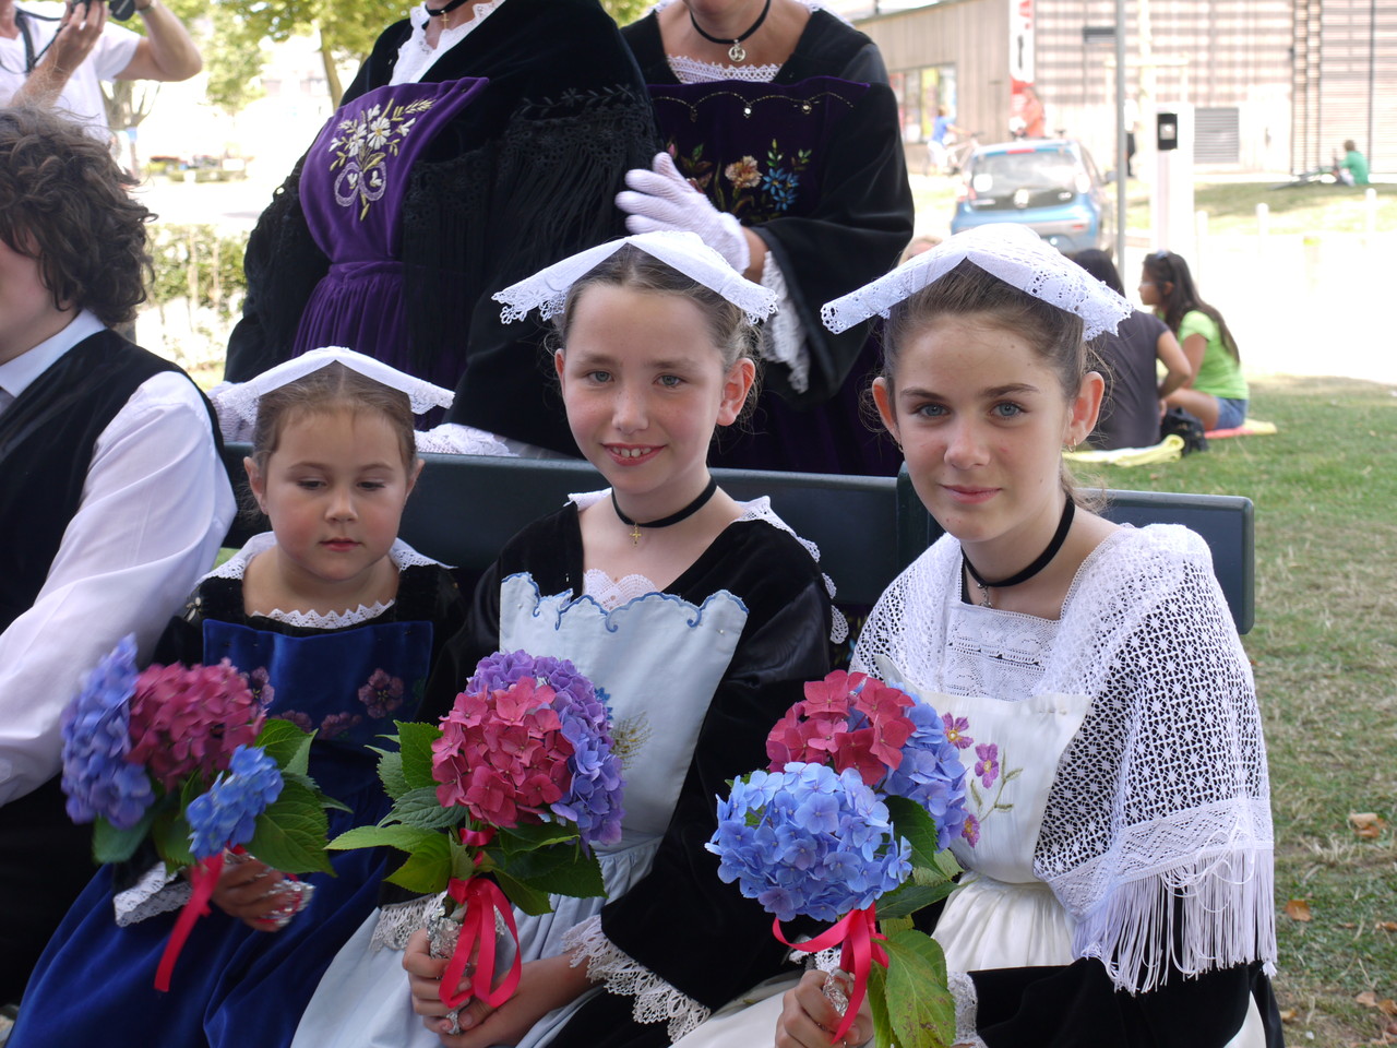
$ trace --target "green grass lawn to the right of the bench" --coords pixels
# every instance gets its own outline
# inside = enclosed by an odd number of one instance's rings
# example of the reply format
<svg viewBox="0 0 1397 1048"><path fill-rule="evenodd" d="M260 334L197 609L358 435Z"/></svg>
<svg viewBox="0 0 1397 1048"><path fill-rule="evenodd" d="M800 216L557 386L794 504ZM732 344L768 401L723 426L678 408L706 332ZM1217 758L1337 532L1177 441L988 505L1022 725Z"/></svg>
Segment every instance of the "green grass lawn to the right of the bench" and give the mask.
<svg viewBox="0 0 1397 1048"><path fill-rule="evenodd" d="M1397 395L1348 379L1252 384L1280 433L1215 440L1169 465L1101 468L1109 488L1256 503L1256 669L1277 836L1280 977L1289 1044L1389 1044L1355 1002L1397 998ZM1085 474L1078 468L1078 476ZM1387 826L1359 838L1351 812ZM1305 900L1313 919L1284 915ZM1397 1042L1397 1026L1393 1027ZM1310 1038L1308 1034L1313 1034Z"/></svg>

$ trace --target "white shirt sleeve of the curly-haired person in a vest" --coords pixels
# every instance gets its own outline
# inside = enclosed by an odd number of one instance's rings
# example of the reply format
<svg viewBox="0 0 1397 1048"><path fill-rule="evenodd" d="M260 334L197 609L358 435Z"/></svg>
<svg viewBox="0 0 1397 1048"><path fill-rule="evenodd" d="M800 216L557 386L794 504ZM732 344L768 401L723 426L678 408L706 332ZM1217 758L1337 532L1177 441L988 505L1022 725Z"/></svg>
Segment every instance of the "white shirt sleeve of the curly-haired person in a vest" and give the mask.
<svg viewBox="0 0 1397 1048"><path fill-rule="evenodd" d="M233 510L198 391L149 379L98 437L47 580L0 634L0 803L59 771L59 720L84 676L127 633L149 655Z"/></svg>

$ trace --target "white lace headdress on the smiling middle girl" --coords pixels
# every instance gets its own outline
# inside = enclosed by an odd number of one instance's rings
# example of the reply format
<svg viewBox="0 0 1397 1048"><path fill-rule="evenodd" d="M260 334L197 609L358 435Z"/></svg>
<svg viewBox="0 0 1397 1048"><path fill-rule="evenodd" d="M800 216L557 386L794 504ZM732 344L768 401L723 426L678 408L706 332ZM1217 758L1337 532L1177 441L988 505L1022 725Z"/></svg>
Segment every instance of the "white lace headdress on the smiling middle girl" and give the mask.
<svg viewBox="0 0 1397 1048"><path fill-rule="evenodd" d="M638 247L645 254L659 259L666 265L718 292L746 313L747 320L753 324L777 312L777 296L771 291L743 278L697 233L658 232L636 233L588 247L571 259L553 263L528 279L496 292L490 298L504 303L504 309L500 310L500 321L513 324L528 316L531 309L538 309L543 320L556 316L562 312L563 303L567 300L567 291L573 284L626 245Z"/></svg>

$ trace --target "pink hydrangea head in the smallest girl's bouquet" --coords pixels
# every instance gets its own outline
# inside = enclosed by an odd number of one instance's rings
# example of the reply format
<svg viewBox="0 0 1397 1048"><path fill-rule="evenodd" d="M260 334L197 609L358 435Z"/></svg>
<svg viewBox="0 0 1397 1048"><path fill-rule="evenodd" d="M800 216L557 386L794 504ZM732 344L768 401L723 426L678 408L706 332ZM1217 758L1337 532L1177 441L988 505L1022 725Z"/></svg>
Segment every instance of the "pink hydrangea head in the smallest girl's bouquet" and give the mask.
<svg viewBox="0 0 1397 1048"><path fill-rule="evenodd" d="M151 665L131 696L134 764L173 789L189 774L212 778L233 750L251 746L265 714L247 678L226 658L217 667Z"/></svg>

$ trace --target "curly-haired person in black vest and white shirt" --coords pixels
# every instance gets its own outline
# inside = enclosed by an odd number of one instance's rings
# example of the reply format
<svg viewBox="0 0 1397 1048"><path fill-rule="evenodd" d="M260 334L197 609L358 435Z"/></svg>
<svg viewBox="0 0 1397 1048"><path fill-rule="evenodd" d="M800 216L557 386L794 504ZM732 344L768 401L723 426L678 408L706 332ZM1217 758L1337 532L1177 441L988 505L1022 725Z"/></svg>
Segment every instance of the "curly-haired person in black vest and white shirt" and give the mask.
<svg viewBox="0 0 1397 1048"><path fill-rule="evenodd" d="M0 109L0 1005L92 876L63 710L127 633L149 657L233 514L207 401L112 331L151 261L129 184L82 127Z"/></svg>

